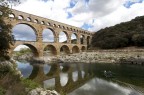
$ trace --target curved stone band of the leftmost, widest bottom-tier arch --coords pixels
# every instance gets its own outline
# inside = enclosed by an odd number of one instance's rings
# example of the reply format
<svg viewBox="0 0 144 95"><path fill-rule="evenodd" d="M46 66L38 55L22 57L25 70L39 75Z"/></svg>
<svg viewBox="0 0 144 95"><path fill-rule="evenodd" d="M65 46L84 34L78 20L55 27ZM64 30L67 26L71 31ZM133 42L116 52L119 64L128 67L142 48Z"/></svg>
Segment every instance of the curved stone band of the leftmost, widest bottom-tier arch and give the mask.
<svg viewBox="0 0 144 95"><path fill-rule="evenodd" d="M19 46L19 45L25 45L25 46L29 47L29 48L31 49L32 53L33 53L33 56L34 56L34 57L39 57L38 49L37 49L34 45L29 44L29 43L23 43L23 44L16 44L16 45L14 45L14 47L11 48L11 53L12 53L12 51L14 51L14 49L15 49L17 46ZM12 54L11 54L11 55L12 55Z"/></svg>

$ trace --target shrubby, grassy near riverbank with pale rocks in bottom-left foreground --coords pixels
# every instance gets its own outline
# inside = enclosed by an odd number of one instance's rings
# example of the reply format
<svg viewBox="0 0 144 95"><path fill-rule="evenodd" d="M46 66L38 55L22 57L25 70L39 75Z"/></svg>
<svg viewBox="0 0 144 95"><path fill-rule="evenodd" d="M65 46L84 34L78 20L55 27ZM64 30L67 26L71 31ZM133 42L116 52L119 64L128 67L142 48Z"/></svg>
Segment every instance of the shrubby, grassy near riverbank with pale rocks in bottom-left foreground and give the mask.
<svg viewBox="0 0 144 95"><path fill-rule="evenodd" d="M55 90L23 78L14 60L0 60L0 95L60 95Z"/></svg>

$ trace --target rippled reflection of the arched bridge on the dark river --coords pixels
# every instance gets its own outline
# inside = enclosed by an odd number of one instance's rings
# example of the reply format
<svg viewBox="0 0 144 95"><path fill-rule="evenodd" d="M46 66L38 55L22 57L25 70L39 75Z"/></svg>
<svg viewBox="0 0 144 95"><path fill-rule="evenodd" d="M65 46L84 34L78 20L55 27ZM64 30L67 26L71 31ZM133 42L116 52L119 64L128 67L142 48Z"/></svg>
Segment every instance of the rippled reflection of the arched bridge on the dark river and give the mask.
<svg viewBox="0 0 144 95"><path fill-rule="evenodd" d="M26 70L24 77L41 84L44 88L55 89L62 93L70 93L94 77L90 66L81 64L34 64L31 66L32 68L29 68L32 70Z"/></svg>

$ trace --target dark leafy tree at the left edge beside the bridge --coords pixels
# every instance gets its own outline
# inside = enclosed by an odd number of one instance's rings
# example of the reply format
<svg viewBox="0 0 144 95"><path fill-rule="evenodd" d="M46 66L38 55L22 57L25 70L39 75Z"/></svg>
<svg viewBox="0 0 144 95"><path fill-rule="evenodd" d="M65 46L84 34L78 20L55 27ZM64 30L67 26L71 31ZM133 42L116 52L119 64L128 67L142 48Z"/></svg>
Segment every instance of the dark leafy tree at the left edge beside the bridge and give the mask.
<svg viewBox="0 0 144 95"><path fill-rule="evenodd" d="M9 17L10 9L8 8L7 2L4 0L0 1L0 57L9 59L8 50L13 45L13 37L11 35L10 24L6 24L4 19Z"/></svg>

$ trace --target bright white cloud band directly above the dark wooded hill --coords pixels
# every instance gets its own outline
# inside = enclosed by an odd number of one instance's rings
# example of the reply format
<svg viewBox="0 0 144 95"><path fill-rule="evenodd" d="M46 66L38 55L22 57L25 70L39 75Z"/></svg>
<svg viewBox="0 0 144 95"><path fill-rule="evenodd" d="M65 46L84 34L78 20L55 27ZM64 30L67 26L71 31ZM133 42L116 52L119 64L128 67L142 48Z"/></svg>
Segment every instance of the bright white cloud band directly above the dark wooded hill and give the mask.
<svg viewBox="0 0 144 95"><path fill-rule="evenodd" d="M104 17L98 17L95 22L92 23L95 27L92 31L99 30L101 28L113 26L115 24L130 21L137 16L144 15L144 3L137 3L131 6L131 8L119 7L116 11Z"/></svg>

